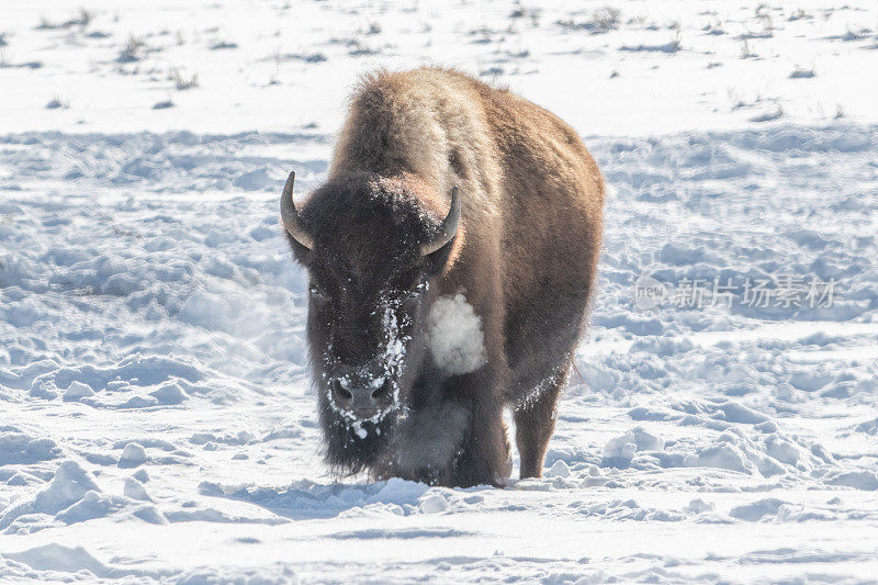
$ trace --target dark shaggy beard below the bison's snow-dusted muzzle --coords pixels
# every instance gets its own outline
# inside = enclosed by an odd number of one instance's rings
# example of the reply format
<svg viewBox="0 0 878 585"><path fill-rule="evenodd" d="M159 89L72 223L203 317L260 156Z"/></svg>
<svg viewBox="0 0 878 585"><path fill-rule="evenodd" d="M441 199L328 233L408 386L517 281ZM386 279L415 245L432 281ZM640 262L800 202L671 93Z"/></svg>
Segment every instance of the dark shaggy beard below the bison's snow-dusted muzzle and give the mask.
<svg viewBox="0 0 878 585"><path fill-rule="evenodd" d="M396 427L396 412L378 420L352 420L336 410L325 393L320 393L319 412L326 461L335 473L349 475L371 470L387 451Z"/></svg>

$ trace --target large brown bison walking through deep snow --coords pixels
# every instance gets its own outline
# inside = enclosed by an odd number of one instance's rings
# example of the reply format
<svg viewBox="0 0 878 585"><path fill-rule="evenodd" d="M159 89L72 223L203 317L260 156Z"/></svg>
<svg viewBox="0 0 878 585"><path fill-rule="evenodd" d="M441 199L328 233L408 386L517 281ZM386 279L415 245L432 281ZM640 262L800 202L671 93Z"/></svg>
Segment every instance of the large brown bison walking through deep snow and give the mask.
<svg viewBox="0 0 878 585"><path fill-rule="evenodd" d="M364 77L326 182L281 218L307 270L328 463L432 485L540 476L593 291L604 181L567 124L426 67Z"/></svg>

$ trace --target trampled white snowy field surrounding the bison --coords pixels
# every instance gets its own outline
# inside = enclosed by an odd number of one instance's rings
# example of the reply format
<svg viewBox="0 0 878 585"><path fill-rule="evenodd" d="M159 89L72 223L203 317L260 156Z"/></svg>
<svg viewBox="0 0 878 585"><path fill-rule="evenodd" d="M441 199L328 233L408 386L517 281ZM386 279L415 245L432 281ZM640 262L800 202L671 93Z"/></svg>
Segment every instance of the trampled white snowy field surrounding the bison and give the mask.
<svg viewBox="0 0 878 585"><path fill-rule="evenodd" d="M876 583L878 7L545 4L0 7L0 581ZM505 490L320 459L278 198L359 72L421 63L609 185L547 477Z"/></svg>

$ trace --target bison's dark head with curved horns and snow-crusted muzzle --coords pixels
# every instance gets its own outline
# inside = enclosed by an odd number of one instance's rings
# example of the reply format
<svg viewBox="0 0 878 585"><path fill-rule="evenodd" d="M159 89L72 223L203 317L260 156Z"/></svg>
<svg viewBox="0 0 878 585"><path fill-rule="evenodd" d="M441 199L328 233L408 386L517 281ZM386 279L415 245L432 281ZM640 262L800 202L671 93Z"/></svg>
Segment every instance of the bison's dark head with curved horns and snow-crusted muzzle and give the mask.
<svg viewBox="0 0 878 585"><path fill-rule="evenodd" d="M442 221L405 182L357 176L315 191L300 215L292 181L281 209L311 280L314 379L324 408L364 438L364 424L379 425L409 403L426 357L431 282L458 230L457 190Z"/></svg>

